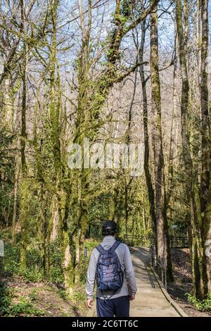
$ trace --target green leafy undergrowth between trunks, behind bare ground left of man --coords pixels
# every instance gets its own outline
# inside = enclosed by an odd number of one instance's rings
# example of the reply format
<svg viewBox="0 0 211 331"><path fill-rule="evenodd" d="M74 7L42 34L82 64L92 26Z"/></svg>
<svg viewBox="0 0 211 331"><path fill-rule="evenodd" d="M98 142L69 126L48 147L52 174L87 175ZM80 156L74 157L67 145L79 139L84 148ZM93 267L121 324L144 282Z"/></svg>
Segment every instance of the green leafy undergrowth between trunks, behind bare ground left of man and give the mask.
<svg viewBox="0 0 211 331"><path fill-rule="evenodd" d="M26 282L52 282L58 287L63 287L64 277L62 270L62 251L59 242L53 242L50 246L51 267L49 274L44 275L42 268L41 252L39 249L39 242L32 240L27 246L27 269L20 269L20 236L17 235L15 246L11 244L11 237L8 233L4 235L0 232L0 237L4 239L5 257L4 257L4 277L20 276ZM80 263L80 282L84 284L87 277L87 268L89 263L89 256L92 249L99 244L99 241L94 239L86 239L84 247L87 247L87 257L82 254Z"/></svg>

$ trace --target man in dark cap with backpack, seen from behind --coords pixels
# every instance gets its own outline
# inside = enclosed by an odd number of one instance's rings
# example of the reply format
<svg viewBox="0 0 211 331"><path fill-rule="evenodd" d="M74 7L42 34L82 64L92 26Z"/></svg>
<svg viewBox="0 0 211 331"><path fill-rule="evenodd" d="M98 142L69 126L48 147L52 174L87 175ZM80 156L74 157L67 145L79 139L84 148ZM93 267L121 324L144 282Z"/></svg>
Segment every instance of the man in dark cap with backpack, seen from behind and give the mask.
<svg viewBox="0 0 211 331"><path fill-rule="evenodd" d="M98 317L129 317L129 301L135 299L136 280L129 248L117 242L117 225L103 223L103 242L91 253L87 272L87 306L93 305L96 281L96 310Z"/></svg>

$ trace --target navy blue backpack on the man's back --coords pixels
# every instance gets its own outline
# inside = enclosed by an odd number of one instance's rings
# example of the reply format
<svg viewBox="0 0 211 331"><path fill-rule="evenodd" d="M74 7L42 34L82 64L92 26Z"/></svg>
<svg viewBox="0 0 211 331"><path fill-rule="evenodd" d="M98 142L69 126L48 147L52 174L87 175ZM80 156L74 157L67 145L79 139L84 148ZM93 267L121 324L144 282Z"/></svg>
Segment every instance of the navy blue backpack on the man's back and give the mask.
<svg viewBox="0 0 211 331"><path fill-rule="evenodd" d="M120 242L115 242L110 249L103 249L99 245L96 249L99 252L96 266L96 283L100 291L117 291L123 284L123 272L120 260L115 252Z"/></svg>

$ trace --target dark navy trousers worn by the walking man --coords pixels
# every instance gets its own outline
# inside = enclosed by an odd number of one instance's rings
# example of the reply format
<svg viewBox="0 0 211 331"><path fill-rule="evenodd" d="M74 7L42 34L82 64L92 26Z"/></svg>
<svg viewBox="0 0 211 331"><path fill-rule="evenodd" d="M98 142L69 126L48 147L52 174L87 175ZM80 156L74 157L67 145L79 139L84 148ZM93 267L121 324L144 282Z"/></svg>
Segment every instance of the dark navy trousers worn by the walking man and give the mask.
<svg viewBox="0 0 211 331"><path fill-rule="evenodd" d="M129 296L120 296L115 299L96 298L98 317L129 317Z"/></svg>

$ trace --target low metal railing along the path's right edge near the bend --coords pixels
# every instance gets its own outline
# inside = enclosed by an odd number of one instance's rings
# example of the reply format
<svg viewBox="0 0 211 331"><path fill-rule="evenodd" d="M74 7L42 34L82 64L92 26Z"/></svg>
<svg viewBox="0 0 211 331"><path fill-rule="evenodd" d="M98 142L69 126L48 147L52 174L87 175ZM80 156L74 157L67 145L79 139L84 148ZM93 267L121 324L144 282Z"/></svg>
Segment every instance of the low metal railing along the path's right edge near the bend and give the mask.
<svg viewBox="0 0 211 331"><path fill-rule="evenodd" d="M167 289L167 259L160 258L160 256L156 254L155 245L151 245L150 254L152 267L156 273L158 273L162 284L165 286L165 289Z"/></svg>

